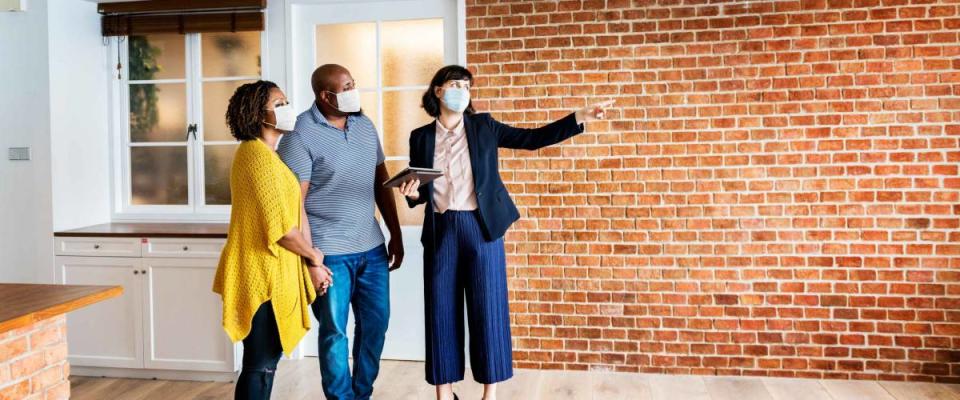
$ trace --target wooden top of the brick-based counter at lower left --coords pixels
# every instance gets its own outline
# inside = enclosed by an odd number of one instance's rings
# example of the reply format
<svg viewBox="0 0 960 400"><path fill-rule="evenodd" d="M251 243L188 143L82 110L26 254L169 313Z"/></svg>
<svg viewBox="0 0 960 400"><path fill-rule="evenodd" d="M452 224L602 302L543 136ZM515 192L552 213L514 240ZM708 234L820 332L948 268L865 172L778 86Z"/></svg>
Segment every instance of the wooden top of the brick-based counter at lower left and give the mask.
<svg viewBox="0 0 960 400"><path fill-rule="evenodd" d="M0 333L66 314L123 293L120 286L0 283Z"/></svg>

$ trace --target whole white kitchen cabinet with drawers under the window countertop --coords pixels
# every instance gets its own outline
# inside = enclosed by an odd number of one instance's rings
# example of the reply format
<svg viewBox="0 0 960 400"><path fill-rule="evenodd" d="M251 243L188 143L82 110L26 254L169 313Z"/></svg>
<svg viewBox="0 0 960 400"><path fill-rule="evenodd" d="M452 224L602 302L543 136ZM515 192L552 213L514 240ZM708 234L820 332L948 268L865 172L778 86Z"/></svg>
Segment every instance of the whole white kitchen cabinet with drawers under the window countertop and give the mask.
<svg viewBox="0 0 960 400"><path fill-rule="evenodd" d="M54 240L58 281L124 288L119 299L68 316L78 375L224 380L239 369L239 344L224 332L211 289L224 239Z"/></svg>

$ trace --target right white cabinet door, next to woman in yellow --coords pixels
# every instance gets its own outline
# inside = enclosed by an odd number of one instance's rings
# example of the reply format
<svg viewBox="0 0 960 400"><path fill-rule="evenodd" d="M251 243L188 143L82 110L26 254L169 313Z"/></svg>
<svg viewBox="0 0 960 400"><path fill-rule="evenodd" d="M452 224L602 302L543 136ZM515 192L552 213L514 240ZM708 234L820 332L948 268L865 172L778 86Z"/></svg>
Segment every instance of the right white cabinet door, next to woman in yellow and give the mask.
<svg viewBox="0 0 960 400"><path fill-rule="evenodd" d="M213 293L217 260L144 258L145 360L152 369L235 371L234 345Z"/></svg>

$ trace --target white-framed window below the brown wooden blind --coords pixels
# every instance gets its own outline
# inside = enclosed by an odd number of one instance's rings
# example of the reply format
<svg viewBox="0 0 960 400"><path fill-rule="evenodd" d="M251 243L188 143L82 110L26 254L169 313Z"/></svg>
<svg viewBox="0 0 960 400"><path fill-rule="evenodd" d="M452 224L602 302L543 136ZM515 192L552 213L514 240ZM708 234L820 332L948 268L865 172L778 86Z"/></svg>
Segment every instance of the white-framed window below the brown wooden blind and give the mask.
<svg viewBox="0 0 960 400"><path fill-rule="evenodd" d="M225 214L237 141L224 114L260 79L261 33L150 34L120 42L121 214Z"/></svg>

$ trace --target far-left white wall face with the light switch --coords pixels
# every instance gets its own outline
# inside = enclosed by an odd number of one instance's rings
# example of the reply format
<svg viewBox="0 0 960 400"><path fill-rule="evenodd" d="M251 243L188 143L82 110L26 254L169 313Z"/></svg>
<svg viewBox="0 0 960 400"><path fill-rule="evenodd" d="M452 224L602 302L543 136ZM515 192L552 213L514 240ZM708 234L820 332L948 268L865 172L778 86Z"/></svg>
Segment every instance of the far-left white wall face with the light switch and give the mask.
<svg viewBox="0 0 960 400"><path fill-rule="evenodd" d="M52 265L47 4L0 12L0 282L32 282ZM30 161L7 148L30 147Z"/></svg>

